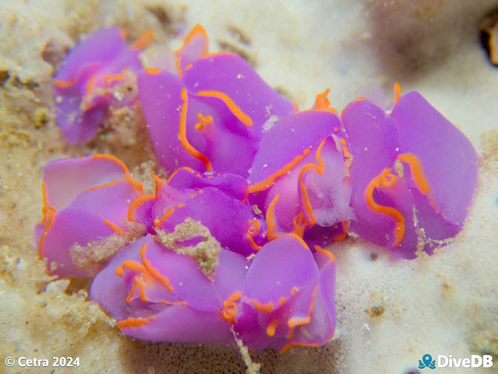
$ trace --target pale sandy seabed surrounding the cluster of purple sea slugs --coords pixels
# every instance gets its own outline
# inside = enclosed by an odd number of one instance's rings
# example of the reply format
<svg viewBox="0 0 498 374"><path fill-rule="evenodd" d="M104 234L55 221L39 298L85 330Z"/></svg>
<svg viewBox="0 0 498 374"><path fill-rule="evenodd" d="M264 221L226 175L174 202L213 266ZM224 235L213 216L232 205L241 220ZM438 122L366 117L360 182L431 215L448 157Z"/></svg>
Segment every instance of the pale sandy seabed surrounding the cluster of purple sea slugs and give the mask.
<svg viewBox="0 0 498 374"><path fill-rule="evenodd" d="M284 355L253 352L260 373L405 374L425 353L491 354L493 369L446 371L497 372L498 69L479 43L479 21L494 6L496 0L1 1L0 358L79 357L80 366L0 363L0 373L245 373L229 347L125 337L88 301L88 284L44 273L33 243L47 161L104 152L123 159L137 179L158 171L129 113L115 114L109 130L84 145L61 139L51 79L65 53L109 25L130 39L152 29L157 43L176 48L179 33L198 22L211 50L241 54L300 108L330 87L341 110L372 87L390 92L398 81L403 92L426 97L481 154L474 205L450 245L428 258L390 262L361 240L334 244L338 337Z"/></svg>

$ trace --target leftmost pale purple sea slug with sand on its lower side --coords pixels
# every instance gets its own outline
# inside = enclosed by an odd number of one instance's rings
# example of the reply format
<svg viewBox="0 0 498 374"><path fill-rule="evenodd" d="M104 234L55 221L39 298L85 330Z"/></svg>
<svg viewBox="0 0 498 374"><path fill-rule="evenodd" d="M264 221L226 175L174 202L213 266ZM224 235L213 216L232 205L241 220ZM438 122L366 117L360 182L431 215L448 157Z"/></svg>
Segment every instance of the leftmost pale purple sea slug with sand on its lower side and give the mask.
<svg viewBox="0 0 498 374"><path fill-rule="evenodd" d="M111 239L125 237L129 203L141 194L142 185L114 156L50 161L43 170L44 218L35 228L48 272L60 277L95 275L87 267L89 251L105 246L106 240L115 247L118 242Z"/></svg>

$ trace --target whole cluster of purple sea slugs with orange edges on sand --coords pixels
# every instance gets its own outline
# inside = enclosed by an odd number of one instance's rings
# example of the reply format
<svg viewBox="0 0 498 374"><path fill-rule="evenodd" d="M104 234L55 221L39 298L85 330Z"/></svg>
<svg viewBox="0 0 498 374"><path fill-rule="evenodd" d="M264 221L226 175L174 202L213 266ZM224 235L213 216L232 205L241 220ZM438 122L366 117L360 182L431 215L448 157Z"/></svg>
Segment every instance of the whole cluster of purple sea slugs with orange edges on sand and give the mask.
<svg viewBox="0 0 498 374"><path fill-rule="evenodd" d="M462 229L478 156L420 94L395 84L388 108L358 98L339 115L327 90L299 111L238 55L208 53L200 25L173 65L142 66L151 37L126 45L111 27L78 44L54 78L56 117L83 142L110 105L139 100L169 179L144 195L114 156L53 160L35 228L47 271L93 278L124 334L320 346L335 330L324 247L355 234L411 259ZM117 95L123 82L137 90Z"/></svg>

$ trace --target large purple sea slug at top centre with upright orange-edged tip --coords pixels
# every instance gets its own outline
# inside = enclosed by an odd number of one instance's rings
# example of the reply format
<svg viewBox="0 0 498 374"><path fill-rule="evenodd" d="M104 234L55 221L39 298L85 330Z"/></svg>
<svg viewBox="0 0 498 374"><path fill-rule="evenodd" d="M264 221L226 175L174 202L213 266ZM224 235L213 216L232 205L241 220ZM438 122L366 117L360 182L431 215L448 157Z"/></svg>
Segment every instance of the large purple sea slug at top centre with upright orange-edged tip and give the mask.
<svg viewBox="0 0 498 374"><path fill-rule="evenodd" d="M166 170L188 166L248 177L265 126L293 113L294 106L240 56L208 54L207 43L198 25L176 52L177 74L137 74L150 138Z"/></svg>

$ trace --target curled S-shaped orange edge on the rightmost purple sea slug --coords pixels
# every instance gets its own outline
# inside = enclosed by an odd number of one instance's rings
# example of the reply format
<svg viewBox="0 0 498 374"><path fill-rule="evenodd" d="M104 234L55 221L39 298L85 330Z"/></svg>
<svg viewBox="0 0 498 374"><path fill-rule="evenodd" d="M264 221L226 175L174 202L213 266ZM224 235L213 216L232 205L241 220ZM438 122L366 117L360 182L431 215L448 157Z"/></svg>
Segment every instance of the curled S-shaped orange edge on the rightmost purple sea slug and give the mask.
<svg viewBox="0 0 498 374"><path fill-rule="evenodd" d="M388 187L396 183L397 177L394 174L390 174L390 172L391 169L385 168L379 175L370 181L369 185L365 189L365 202L369 208L373 210L373 212L389 216L396 221L396 227L394 229L396 241L393 244L393 247L396 247L399 245L404 236L404 217L397 209L385 207L373 201L373 190L375 188Z"/></svg>

